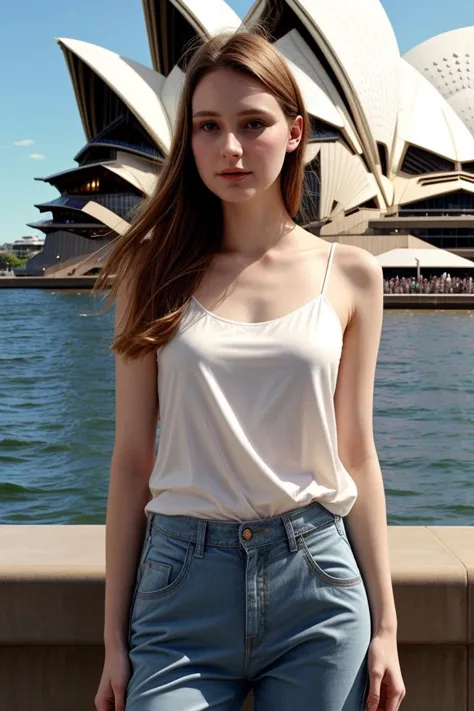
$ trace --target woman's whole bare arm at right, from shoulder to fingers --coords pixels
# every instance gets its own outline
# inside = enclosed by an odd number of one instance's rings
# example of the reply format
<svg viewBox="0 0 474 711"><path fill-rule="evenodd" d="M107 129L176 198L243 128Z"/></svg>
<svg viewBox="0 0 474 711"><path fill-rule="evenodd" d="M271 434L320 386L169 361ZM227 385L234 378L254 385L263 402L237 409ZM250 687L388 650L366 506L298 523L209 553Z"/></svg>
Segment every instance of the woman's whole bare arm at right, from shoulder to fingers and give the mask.
<svg viewBox="0 0 474 711"><path fill-rule="evenodd" d="M397 614L390 572L387 513L373 434L375 370L383 322L383 272L369 252L356 248L347 266L353 285L351 317L337 387L338 451L358 497L345 517L372 616L367 709L396 711L405 696L397 650Z"/></svg>

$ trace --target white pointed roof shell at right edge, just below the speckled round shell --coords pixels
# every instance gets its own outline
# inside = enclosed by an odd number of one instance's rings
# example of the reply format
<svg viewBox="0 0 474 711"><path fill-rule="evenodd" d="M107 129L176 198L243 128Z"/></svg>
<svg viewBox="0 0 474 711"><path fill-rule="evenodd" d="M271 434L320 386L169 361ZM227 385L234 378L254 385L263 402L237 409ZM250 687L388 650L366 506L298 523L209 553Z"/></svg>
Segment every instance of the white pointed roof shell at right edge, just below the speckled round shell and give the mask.
<svg viewBox="0 0 474 711"><path fill-rule="evenodd" d="M403 92L398 114L392 168L400 169L405 144L419 146L452 161L474 160L474 136L441 94L404 59Z"/></svg>

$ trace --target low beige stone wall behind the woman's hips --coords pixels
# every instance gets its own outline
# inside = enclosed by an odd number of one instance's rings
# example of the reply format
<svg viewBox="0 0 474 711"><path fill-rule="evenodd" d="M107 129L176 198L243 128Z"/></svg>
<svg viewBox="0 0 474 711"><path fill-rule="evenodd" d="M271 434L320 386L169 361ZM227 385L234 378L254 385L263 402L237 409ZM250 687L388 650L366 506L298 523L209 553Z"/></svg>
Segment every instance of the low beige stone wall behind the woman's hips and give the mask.
<svg viewBox="0 0 474 711"><path fill-rule="evenodd" d="M389 540L402 709L474 711L474 527ZM104 526L0 526L0 709L94 711L104 569Z"/></svg>

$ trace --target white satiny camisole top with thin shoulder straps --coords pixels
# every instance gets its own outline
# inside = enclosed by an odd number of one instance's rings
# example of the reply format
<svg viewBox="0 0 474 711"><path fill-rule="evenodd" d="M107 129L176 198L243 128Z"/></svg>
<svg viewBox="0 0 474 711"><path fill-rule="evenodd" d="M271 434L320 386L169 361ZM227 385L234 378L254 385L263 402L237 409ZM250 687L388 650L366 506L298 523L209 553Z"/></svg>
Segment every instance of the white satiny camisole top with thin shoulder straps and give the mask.
<svg viewBox="0 0 474 711"><path fill-rule="evenodd" d="M158 349L161 432L145 512L250 521L318 501L345 516L357 498L338 456L334 410L343 333L321 293L245 323L194 297Z"/></svg>

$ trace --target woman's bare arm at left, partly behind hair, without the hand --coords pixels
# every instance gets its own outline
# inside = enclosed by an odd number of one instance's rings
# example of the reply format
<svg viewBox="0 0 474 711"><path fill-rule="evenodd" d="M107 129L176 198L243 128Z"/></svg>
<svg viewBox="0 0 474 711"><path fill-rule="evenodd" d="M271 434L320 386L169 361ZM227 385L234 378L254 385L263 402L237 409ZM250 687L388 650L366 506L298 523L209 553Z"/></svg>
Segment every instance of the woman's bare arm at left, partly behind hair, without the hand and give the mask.
<svg viewBox="0 0 474 711"><path fill-rule="evenodd" d="M115 302L115 330L127 309L125 289ZM156 457L159 419L156 350L133 361L115 356L115 442L105 529L106 652L127 648L128 613L145 535L145 505Z"/></svg>

